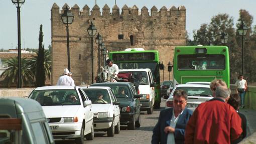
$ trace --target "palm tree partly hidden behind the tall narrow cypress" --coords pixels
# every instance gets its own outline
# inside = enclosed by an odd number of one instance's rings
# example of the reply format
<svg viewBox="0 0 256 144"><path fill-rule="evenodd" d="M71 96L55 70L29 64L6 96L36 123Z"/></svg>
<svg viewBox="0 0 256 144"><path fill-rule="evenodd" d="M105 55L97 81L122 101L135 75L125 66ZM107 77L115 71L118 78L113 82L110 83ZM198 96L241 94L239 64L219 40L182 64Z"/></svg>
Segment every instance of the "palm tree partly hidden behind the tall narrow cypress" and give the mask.
<svg viewBox="0 0 256 144"><path fill-rule="evenodd" d="M37 55L33 55L32 58L30 59L29 64L31 65L31 73L33 74L33 81L35 78L36 74L36 67L37 67L37 57L38 57L38 51L34 51ZM45 71L45 80L51 78L51 71L52 71L52 56L49 50L45 50L44 52L44 71Z"/></svg>

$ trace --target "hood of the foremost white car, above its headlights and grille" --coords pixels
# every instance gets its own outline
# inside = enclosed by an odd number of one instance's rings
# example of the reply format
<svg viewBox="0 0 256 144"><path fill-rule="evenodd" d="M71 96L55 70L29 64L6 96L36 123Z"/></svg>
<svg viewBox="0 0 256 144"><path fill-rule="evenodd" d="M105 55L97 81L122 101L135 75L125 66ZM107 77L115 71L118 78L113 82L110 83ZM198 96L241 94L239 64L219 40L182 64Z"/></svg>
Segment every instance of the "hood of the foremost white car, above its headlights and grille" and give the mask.
<svg viewBox="0 0 256 144"><path fill-rule="evenodd" d="M80 105L42 106L46 117L74 117Z"/></svg>

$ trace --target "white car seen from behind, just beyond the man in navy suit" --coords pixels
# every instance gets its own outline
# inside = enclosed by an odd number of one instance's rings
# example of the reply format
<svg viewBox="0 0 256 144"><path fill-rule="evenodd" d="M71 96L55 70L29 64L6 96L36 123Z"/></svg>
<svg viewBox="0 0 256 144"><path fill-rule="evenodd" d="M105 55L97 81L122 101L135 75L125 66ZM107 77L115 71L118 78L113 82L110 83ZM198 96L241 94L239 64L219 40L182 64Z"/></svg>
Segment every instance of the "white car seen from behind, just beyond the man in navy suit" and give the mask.
<svg viewBox="0 0 256 144"><path fill-rule="evenodd" d="M173 107L173 94L175 90L185 90L188 94L186 107L194 111L196 107L205 101L212 99L210 85L203 84L178 84L174 87L169 98L166 100L166 108ZM167 98L167 97L165 97Z"/></svg>

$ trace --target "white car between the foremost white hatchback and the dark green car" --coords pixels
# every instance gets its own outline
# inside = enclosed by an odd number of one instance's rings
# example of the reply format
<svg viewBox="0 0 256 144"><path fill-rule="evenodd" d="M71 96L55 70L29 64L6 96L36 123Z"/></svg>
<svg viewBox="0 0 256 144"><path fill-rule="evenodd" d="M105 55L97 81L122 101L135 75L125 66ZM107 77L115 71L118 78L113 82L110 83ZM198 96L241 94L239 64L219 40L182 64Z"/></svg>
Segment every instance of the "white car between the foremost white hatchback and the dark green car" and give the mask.
<svg viewBox="0 0 256 144"><path fill-rule="evenodd" d="M120 132L120 109L110 87L82 87L92 101L95 131L107 131L107 136ZM101 96L100 96L101 95ZM99 99L99 97L101 97ZM103 100L102 100L103 99Z"/></svg>

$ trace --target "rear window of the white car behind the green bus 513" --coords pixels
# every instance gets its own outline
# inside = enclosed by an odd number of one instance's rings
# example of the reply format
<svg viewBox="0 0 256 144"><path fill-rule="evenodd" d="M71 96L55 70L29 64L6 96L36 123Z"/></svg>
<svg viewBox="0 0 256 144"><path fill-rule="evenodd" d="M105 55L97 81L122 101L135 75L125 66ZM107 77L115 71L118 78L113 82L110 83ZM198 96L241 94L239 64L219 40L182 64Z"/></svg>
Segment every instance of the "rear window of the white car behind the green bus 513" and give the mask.
<svg viewBox="0 0 256 144"><path fill-rule="evenodd" d="M185 90L188 96L212 96L212 92L208 87L177 87L175 90Z"/></svg>

